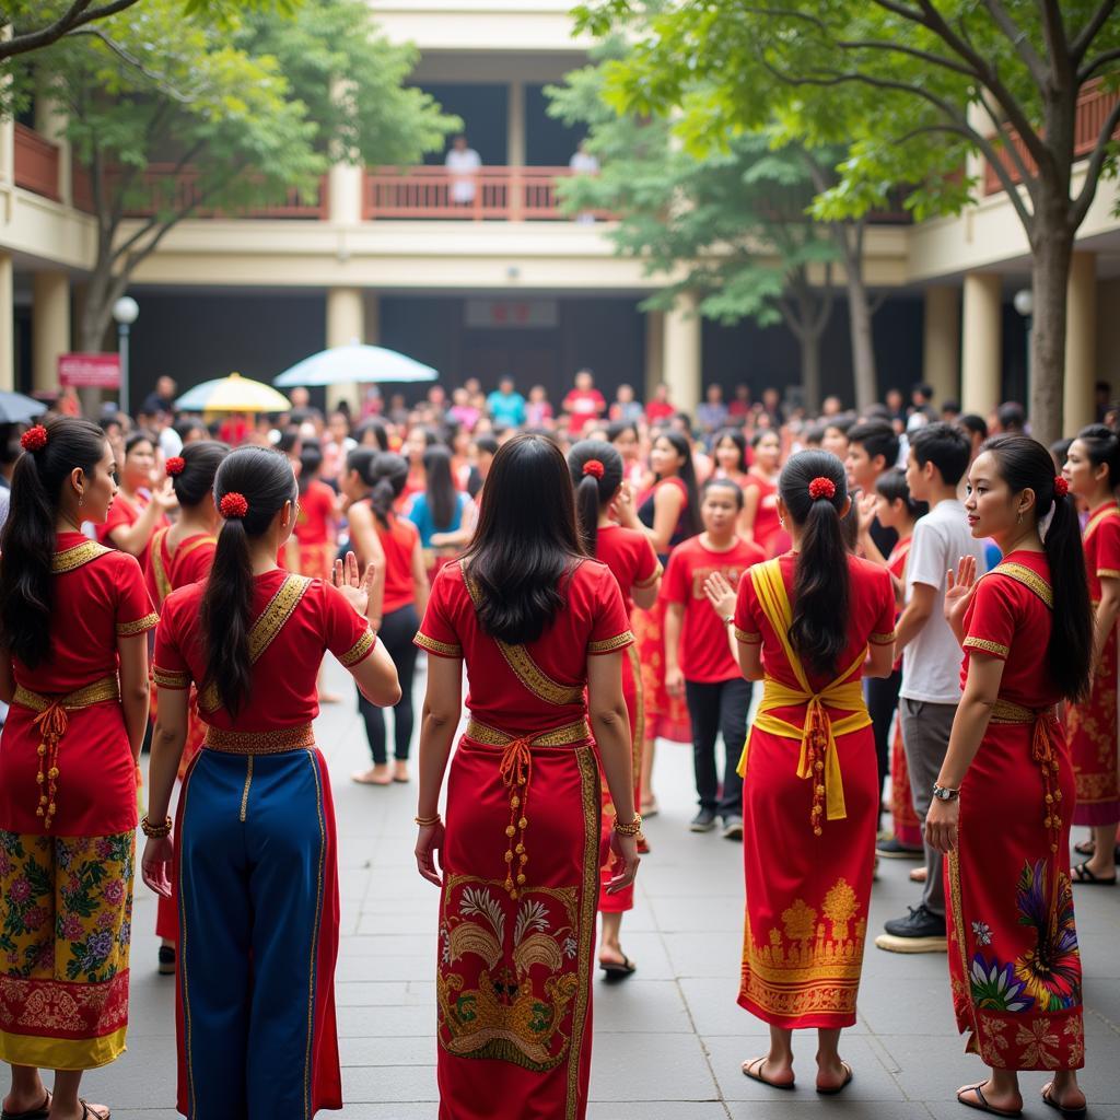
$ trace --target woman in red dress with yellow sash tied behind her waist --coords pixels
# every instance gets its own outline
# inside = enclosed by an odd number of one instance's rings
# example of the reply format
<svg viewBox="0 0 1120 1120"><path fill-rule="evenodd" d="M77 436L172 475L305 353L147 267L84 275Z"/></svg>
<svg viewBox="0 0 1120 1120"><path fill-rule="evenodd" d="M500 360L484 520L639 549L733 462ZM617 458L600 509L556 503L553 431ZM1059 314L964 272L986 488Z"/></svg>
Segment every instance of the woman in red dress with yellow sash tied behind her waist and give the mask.
<svg viewBox="0 0 1120 1120"><path fill-rule="evenodd" d="M856 1023L879 818L860 678L889 675L894 660L890 577L848 552L840 522L850 505L834 455L794 455L777 505L793 550L739 581L734 619L743 675L764 682L739 764L747 888L739 1005L769 1024L771 1047L743 1072L792 1088L793 1030L815 1027L820 1093L838 1093L852 1077L840 1032ZM708 586L726 617L727 581L712 576Z"/></svg>

